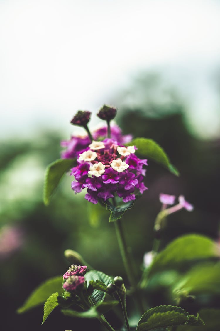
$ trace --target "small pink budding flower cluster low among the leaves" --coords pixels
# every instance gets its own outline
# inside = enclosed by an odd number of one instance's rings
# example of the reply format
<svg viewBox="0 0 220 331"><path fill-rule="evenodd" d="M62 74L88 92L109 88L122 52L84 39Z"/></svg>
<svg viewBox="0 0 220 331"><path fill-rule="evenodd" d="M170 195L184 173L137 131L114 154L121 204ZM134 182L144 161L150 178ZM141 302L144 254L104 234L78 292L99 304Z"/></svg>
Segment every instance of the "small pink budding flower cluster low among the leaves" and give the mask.
<svg viewBox="0 0 220 331"><path fill-rule="evenodd" d="M63 288L68 292L74 292L85 282L85 273L87 271L86 265L71 264L70 268L63 275L64 283Z"/></svg>

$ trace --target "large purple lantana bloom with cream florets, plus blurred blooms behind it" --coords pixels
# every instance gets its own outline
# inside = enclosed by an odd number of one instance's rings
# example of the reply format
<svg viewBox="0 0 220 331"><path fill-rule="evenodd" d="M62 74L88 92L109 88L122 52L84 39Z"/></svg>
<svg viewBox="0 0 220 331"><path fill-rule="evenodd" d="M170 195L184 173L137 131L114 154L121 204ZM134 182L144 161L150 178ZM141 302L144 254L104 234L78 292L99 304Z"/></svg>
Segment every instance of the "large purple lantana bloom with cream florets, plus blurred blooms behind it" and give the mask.
<svg viewBox="0 0 220 331"><path fill-rule="evenodd" d="M110 138L106 137L108 131ZM131 139L131 135L123 136L121 129L112 125L103 126L90 136L72 136L70 141L62 142L67 147L62 157L77 157L77 166L71 169L75 176L72 190L77 194L87 189L85 199L93 204L115 195L126 203L135 200L136 193L142 194L147 189L143 183L147 160L135 155L135 146L125 146Z"/></svg>

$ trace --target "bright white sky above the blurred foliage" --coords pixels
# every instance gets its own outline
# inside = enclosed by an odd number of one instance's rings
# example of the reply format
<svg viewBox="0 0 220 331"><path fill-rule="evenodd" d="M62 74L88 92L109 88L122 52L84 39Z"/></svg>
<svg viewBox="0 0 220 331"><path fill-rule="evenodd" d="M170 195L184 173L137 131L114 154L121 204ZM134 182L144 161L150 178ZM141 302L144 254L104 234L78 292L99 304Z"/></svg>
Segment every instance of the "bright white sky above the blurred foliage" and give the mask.
<svg viewBox="0 0 220 331"><path fill-rule="evenodd" d="M220 1L0 0L1 138L68 138L78 109L148 70L176 86L196 133L219 136Z"/></svg>

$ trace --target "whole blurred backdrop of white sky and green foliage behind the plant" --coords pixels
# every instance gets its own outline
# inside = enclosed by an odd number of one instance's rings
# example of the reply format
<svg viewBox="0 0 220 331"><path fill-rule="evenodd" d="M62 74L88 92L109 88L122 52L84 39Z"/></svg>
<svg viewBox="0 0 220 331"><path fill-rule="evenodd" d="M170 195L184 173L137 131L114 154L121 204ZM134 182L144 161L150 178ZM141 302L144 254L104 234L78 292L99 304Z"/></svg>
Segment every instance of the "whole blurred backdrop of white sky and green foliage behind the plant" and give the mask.
<svg viewBox="0 0 220 331"><path fill-rule="evenodd" d="M73 329L54 311L18 308L43 280L63 274L67 248L126 280L108 213L74 195L68 175L48 207L46 166L77 133L78 109L118 108L117 123L156 140L181 176L149 162L149 188L127 212L137 265L151 250L160 192L195 211L169 218L161 248L184 233L219 236L220 1L0 1L0 284L4 328ZM158 297L158 296L157 296ZM160 299L160 298L159 298ZM158 300L159 300L158 299ZM160 304L152 300L154 305ZM34 322L33 322L34 321ZM86 328L86 321L74 321ZM79 324L80 323L80 324ZM98 330L99 323L91 330Z"/></svg>

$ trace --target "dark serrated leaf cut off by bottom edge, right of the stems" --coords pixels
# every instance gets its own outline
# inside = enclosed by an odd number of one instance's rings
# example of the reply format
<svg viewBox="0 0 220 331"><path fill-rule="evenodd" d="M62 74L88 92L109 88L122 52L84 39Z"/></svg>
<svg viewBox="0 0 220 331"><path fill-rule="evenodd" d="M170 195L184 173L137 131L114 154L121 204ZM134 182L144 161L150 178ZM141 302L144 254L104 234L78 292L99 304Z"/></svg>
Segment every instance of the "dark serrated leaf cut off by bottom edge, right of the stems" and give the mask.
<svg viewBox="0 0 220 331"><path fill-rule="evenodd" d="M190 315L185 309L176 306L159 306L147 310L137 325L137 331L154 330L181 324L203 325L199 317Z"/></svg>

